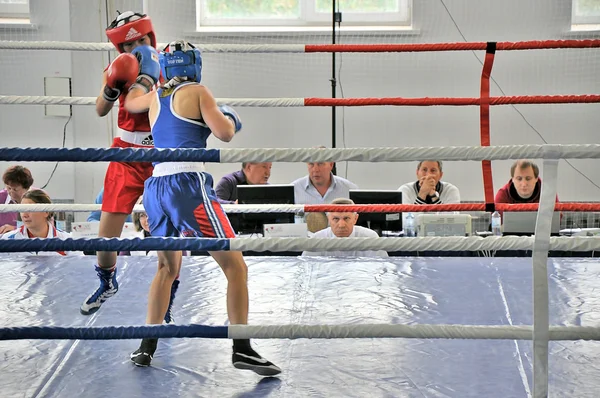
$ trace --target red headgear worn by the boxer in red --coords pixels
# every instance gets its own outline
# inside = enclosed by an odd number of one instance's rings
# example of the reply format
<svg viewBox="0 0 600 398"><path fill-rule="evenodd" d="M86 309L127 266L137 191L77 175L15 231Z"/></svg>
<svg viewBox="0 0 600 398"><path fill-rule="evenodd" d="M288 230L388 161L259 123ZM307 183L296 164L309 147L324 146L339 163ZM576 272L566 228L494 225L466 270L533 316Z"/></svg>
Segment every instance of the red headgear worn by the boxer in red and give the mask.
<svg viewBox="0 0 600 398"><path fill-rule="evenodd" d="M122 53L123 44L138 40L140 37L148 35L152 47L156 48L156 36L152 28L152 21L146 14L138 14L133 11L126 11L119 14L117 19L112 21L106 28L108 40Z"/></svg>

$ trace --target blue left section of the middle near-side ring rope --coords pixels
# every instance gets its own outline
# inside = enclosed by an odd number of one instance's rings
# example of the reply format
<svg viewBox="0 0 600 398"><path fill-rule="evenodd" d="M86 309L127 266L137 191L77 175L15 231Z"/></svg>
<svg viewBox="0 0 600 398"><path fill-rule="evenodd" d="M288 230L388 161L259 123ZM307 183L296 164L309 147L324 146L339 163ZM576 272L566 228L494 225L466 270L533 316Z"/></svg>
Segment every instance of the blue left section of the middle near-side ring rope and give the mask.
<svg viewBox="0 0 600 398"><path fill-rule="evenodd" d="M228 251L230 239L217 238L47 238L0 239L0 252L43 251L149 251L198 250Z"/></svg>

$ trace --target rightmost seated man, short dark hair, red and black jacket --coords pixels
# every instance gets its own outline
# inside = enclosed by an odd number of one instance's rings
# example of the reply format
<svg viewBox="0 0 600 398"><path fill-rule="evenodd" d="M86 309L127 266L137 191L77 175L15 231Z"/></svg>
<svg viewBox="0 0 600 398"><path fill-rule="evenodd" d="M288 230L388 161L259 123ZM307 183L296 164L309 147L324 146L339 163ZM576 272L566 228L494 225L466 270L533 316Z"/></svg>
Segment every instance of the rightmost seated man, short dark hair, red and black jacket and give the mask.
<svg viewBox="0 0 600 398"><path fill-rule="evenodd" d="M495 203L539 203L542 192L540 169L530 160L517 160L510 168L510 180L496 193ZM558 195L556 196L558 202Z"/></svg>

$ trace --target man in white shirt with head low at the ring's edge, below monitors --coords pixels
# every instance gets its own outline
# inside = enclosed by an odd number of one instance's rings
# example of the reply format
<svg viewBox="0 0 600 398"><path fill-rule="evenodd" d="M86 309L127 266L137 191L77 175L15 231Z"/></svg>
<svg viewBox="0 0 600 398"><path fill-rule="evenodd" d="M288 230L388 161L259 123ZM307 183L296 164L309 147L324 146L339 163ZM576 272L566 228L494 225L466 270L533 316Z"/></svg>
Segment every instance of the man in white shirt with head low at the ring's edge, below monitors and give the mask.
<svg viewBox="0 0 600 398"><path fill-rule="evenodd" d="M338 198L331 202L332 205L353 205L354 201ZM316 232L313 238L378 238L377 232L356 225L358 213L329 212L327 213L329 227ZM302 253L303 256L336 256L336 257L388 257L383 250L364 251L327 251Z"/></svg>

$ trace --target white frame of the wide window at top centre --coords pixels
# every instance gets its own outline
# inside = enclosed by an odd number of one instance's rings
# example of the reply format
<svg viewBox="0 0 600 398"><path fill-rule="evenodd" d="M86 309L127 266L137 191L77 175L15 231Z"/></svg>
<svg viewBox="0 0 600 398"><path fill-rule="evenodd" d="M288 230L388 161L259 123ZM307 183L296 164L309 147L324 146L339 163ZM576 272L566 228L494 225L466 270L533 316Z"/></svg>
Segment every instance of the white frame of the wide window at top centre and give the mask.
<svg viewBox="0 0 600 398"><path fill-rule="evenodd" d="M206 29L226 28L235 26L248 27L257 30L264 27L286 28L315 28L331 25L330 12L316 11L316 0L299 0L300 14L298 17L279 19L246 19L246 18L204 18L207 0L196 0L196 31ZM412 0L398 0L399 10L395 13L353 13L342 11L342 25L351 26L397 26L410 28L412 26Z"/></svg>

